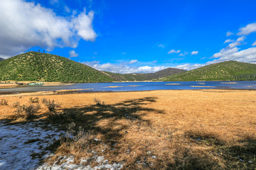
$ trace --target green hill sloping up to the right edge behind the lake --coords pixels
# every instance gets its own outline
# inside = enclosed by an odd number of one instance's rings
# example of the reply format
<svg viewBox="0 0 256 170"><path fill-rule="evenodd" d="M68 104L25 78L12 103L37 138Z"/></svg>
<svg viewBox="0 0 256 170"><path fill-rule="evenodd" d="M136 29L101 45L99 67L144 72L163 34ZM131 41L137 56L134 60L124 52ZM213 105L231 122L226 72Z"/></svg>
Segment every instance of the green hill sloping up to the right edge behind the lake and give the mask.
<svg viewBox="0 0 256 170"><path fill-rule="evenodd" d="M164 81L249 81L256 80L256 64L219 62L161 79Z"/></svg>

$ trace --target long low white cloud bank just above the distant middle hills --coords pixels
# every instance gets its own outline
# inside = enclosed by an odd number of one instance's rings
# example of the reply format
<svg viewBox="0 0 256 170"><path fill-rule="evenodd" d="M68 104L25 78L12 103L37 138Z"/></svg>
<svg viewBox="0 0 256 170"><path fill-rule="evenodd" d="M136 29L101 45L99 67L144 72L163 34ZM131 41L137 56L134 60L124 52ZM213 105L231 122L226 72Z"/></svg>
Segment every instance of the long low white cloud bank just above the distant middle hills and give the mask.
<svg viewBox="0 0 256 170"><path fill-rule="evenodd" d="M129 73L149 73L149 72L159 72L162 69L166 69L165 66L143 66L143 67L130 67L126 64L111 64L104 63L100 64L100 62L82 62L82 64L89 65L92 68L98 69L100 71L121 73L121 74L129 74Z"/></svg>

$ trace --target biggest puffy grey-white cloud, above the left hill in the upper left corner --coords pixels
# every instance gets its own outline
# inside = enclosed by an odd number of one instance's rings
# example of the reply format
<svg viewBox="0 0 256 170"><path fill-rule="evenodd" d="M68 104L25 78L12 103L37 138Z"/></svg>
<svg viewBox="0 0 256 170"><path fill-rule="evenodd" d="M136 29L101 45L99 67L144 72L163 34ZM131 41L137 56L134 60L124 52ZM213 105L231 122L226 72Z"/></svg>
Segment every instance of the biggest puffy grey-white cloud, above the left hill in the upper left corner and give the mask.
<svg viewBox="0 0 256 170"><path fill-rule="evenodd" d="M57 16L53 10L40 4L25 0L2 0L0 55L15 55L35 46L46 50L77 47L80 39L95 40L93 15L92 11L83 11L65 18Z"/></svg>

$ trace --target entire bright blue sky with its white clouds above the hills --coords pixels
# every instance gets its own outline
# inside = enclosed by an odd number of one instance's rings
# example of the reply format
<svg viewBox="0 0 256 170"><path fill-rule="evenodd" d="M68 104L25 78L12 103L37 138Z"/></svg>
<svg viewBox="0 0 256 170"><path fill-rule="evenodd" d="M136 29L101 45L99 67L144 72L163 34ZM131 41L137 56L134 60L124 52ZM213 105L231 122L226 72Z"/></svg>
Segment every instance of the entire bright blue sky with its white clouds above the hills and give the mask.
<svg viewBox="0 0 256 170"><path fill-rule="evenodd" d="M255 8L246 0L2 0L0 57L40 49L120 73L256 63Z"/></svg>

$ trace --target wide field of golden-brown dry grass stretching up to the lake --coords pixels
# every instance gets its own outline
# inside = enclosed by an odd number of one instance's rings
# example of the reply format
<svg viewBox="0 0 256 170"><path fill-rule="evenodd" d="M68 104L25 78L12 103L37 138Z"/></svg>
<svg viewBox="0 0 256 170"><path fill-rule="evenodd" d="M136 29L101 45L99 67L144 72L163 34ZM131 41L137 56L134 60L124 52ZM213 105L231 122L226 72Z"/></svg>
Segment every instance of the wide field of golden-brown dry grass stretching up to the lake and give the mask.
<svg viewBox="0 0 256 170"><path fill-rule="evenodd" d="M58 143L57 155L79 159L93 148L110 162L124 161L125 169L255 169L255 96L256 91L186 90L38 97L62 103L56 110L61 119L54 122L60 128L75 122L75 133L81 127L100 139L83 148L74 140ZM5 97L21 104L28 98ZM1 119L14 113L11 106L0 107ZM48 121L47 114L41 108L39 119Z"/></svg>

